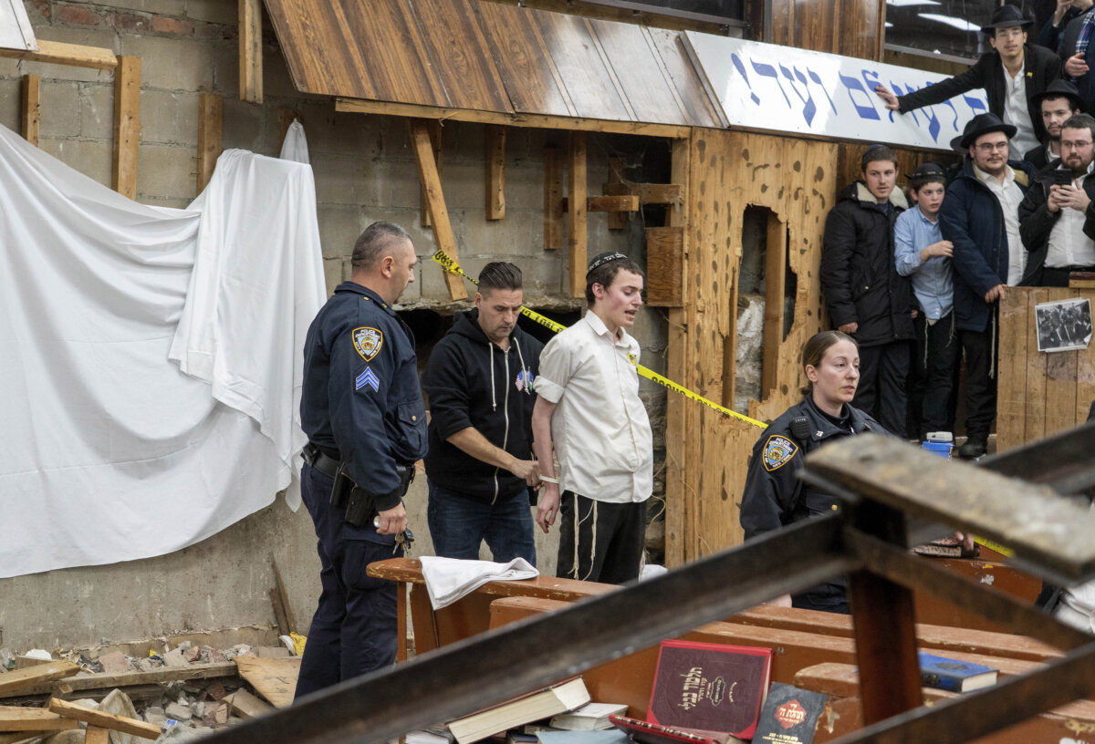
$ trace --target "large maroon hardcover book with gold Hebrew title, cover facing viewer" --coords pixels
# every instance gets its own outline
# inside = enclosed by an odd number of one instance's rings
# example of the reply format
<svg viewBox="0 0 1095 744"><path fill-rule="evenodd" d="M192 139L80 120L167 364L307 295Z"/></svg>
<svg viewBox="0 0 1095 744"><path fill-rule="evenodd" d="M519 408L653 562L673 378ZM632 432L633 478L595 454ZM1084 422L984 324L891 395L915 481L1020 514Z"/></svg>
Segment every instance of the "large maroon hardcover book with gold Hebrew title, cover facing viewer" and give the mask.
<svg viewBox="0 0 1095 744"><path fill-rule="evenodd" d="M771 649L662 641L646 720L752 739L771 676Z"/></svg>

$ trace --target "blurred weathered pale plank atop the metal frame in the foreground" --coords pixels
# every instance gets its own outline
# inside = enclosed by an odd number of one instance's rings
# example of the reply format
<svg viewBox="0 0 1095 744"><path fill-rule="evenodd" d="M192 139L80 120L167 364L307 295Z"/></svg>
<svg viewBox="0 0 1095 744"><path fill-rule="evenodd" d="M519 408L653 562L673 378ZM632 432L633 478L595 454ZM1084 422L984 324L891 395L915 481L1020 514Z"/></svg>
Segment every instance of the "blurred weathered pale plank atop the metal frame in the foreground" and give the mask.
<svg viewBox="0 0 1095 744"><path fill-rule="evenodd" d="M1015 550L1038 576L1072 583L1095 574L1095 513L1047 486L938 456L891 437L863 434L806 458L804 477L853 491Z"/></svg>

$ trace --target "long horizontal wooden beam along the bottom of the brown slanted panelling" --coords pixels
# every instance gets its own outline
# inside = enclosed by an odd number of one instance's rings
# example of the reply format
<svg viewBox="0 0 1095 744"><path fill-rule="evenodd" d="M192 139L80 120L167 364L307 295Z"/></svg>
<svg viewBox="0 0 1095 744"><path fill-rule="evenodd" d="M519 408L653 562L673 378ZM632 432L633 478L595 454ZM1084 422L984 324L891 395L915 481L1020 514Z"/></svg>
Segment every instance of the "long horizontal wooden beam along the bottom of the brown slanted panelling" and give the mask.
<svg viewBox="0 0 1095 744"><path fill-rule="evenodd" d="M572 116L548 116L545 114L504 114L470 108L445 106L422 106L388 101L366 101L362 98L335 98L335 111L348 114L383 114L426 119L452 119L479 124L500 124L507 127L533 127L537 129L566 129L570 131L607 131L618 135L644 135L647 137L669 137L680 139L689 136L690 128L671 124L644 124L642 121L611 121ZM771 133L771 132L769 132Z"/></svg>

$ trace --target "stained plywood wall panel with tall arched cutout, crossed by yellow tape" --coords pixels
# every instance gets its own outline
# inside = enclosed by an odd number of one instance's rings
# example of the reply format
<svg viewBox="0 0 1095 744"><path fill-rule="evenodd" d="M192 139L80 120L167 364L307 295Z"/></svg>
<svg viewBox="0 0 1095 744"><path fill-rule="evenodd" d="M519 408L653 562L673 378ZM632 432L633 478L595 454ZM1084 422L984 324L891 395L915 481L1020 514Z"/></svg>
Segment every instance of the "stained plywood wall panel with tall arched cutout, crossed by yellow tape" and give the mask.
<svg viewBox="0 0 1095 744"><path fill-rule="evenodd" d="M777 350L774 391L750 406L750 416L771 419L800 399L798 356L820 322L817 268L825 216L837 193L835 165L837 146L827 142L693 130L687 182L692 196L684 201L684 297L691 301L679 324L670 317L669 369L682 384L715 400L728 392L734 365L725 352L735 338L742 216L748 205L758 205L789 229L787 259L797 288L791 333ZM668 562L695 560L741 542L738 509L760 433L703 406L670 407L666 439L679 438L680 446L667 451L673 463L667 478Z"/></svg>

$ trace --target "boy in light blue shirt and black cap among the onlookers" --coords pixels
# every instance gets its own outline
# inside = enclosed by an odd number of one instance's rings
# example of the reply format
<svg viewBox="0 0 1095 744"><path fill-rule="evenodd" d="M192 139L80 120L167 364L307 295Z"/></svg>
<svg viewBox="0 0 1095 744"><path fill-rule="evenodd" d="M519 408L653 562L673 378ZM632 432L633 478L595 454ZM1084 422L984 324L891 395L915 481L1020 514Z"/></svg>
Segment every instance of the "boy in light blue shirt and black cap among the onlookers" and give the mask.
<svg viewBox="0 0 1095 744"><path fill-rule="evenodd" d="M924 163L909 176L915 209L902 212L894 224L897 272L912 278L920 312L914 319L917 356L909 372L910 439L931 431L954 431L954 391L961 345L954 327L954 246L943 240L938 213L946 191L946 174L937 163Z"/></svg>

